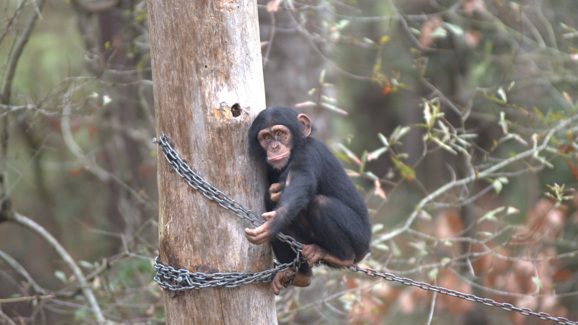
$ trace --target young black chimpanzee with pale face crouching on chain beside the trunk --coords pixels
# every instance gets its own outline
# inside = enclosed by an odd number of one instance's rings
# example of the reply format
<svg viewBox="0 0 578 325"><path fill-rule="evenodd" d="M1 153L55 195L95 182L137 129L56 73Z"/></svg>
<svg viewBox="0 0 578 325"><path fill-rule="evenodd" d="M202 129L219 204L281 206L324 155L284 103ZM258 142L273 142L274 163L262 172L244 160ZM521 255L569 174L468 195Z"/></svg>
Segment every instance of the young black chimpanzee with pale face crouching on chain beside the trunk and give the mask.
<svg viewBox="0 0 578 325"><path fill-rule="evenodd" d="M309 286L311 267L321 259L332 267L361 261L371 239L365 201L327 145L309 136L311 131L309 117L283 106L263 110L249 129L250 153L267 167L269 212L262 215L264 224L246 228L245 235L257 245L271 241L280 263L290 263L295 253L276 238L277 232L305 243L302 253L309 265L301 265L293 283L300 287ZM292 273L277 273L275 294Z"/></svg>

